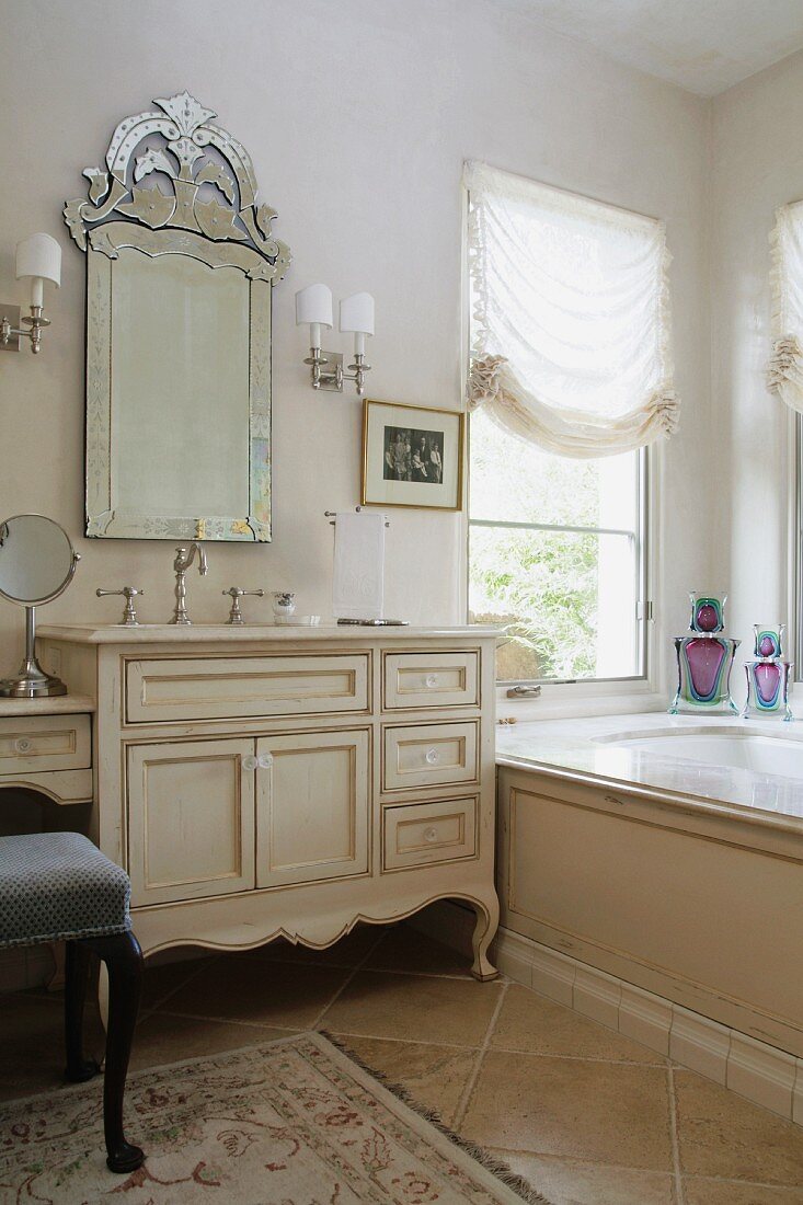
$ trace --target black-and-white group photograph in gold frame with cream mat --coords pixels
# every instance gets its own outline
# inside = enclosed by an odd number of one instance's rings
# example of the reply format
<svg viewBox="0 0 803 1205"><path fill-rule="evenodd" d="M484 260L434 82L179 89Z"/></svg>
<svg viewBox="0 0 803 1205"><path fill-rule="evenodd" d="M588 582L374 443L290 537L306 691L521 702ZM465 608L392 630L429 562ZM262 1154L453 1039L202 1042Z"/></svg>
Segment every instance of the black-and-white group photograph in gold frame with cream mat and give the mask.
<svg viewBox="0 0 803 1205"><path fill-rule="evenodd" d="M363 505L459 511L463 415L369 401L363 407Z"/></svg>

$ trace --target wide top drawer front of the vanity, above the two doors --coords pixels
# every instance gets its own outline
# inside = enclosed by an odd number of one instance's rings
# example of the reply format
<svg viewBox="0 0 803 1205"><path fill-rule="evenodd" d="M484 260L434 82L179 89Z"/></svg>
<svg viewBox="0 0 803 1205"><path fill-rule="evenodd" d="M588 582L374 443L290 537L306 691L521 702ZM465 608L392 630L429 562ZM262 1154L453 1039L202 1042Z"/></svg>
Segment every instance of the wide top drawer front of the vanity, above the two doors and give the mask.
<svg viewBox="0 0 803 1205"><path fill-rule="evenodd" d="M368 653L131 660L128 723L368 710Z"/></svg>

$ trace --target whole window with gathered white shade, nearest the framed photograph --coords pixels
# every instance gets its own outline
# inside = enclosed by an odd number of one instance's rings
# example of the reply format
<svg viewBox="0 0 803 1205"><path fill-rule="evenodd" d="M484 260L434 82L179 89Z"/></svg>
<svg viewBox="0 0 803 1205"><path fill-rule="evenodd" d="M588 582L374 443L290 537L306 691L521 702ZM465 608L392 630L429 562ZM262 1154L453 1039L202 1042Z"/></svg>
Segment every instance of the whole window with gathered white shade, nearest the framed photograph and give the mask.
<svg viewBox="0 0 803 1205"><path fill-rule="evenodd" d="M469 619L503 681L647 671L649 445L678 421L663 223L483 164L469 192Z"/></svg>

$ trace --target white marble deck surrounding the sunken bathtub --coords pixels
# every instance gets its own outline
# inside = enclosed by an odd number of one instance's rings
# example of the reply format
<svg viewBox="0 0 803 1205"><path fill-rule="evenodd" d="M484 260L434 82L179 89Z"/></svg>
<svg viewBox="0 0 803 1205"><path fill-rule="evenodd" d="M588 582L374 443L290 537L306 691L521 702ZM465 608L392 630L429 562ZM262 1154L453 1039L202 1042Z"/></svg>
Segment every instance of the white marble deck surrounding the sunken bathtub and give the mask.
<svg viewBox="0 0 803 1205"><path fill-rule="evenodd" d="M666 752L641 750L625 741L666 734L761 736L799 743L801 777L767 774L737 765L679 757L667 741ZM738 716L669 716L667 712L604 716L586 719L528 721L497 728L497 764L567 770L588 781L649 787L687 804L749 816L756 822L783 824L803 834L803 724L766 719L754 723Z"/></svg>

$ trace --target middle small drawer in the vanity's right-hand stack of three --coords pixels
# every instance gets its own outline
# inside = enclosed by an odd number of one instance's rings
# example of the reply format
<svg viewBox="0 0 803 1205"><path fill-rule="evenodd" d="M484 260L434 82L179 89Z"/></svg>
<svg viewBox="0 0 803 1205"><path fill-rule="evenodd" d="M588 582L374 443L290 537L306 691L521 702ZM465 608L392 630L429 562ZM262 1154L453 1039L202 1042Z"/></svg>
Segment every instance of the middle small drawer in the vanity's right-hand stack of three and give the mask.
<svg viewBox="0 0 803 1205"><path fill-rule="evenodd" d="M383 737L383 790L477 780L476 719L458 724L387 727Z"/></svg>

